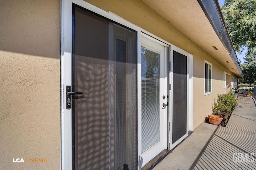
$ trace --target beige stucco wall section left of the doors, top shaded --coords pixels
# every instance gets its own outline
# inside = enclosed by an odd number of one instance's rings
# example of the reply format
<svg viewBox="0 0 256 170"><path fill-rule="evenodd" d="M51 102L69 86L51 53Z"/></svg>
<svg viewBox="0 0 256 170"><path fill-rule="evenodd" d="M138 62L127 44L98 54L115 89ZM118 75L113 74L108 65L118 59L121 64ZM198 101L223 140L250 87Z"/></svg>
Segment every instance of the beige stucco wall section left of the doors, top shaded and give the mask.
<svg viewBox="0 0 256 170"><path fill-rule="evenodd" d="M0 169L60 169L60 2L1 1L0 23Z"/></svg>

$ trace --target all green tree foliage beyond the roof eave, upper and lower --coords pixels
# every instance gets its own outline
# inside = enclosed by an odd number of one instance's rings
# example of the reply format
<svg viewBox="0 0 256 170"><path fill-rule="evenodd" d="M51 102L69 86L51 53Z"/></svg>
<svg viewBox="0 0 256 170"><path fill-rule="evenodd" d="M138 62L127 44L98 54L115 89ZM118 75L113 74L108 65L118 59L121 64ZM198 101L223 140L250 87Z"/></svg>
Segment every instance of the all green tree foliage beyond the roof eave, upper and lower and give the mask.
<svg viewBox="0 0 256 170"><path fill-rule="evenodd" d="M241 65L244 82L256 81L256 0L225 0L221 7L237 52L248 50Z"/></svg>

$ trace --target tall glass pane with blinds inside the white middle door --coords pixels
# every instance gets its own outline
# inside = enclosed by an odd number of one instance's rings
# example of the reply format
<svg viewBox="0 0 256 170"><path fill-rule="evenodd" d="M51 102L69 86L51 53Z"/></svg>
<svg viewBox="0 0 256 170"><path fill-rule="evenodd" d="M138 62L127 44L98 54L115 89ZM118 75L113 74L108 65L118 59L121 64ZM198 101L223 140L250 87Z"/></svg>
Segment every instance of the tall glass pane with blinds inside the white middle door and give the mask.
<svg viewBox="0 0 256 170"><path fill-rule="evenodd" d="M141 57L142 153L160 141L160 53L145 51Z"/></svg>

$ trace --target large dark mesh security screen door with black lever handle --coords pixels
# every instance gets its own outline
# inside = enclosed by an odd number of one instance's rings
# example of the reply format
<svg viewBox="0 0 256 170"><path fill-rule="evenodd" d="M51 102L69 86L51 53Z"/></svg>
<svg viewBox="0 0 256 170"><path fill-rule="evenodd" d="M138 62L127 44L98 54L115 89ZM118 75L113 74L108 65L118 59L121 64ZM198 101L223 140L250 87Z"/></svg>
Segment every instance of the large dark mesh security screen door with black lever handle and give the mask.
<svg viewBox="0 0 256 170"><path fill-rule="evenodd" d="M73 5L73 169L137 168L137 33Z"/></svg>

